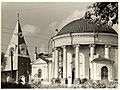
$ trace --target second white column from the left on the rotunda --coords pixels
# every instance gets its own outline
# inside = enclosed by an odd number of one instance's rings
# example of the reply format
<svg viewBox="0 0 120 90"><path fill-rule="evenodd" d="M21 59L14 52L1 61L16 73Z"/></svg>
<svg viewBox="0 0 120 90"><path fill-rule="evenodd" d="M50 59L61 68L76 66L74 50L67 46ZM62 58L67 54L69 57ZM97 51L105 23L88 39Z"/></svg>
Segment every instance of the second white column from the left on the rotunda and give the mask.
<svg viewBox="0 0 120 90"><path fill-rule="evenodd" d="M62 83L67 83L67 50L66 46L63 46L63 81Z"/></svg>

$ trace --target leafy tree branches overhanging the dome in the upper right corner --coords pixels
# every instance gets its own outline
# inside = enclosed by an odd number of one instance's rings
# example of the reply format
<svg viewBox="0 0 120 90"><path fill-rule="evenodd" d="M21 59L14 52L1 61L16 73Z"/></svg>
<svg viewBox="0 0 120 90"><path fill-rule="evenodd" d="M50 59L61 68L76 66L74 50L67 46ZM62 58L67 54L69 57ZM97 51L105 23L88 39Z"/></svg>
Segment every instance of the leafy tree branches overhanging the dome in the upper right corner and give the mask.
<svg viewBox="0 0 120 90"><path fill-rule="evenodd" d="M110 27L118 24L118 2L96 2L87 9L94 23Z"/></svg>

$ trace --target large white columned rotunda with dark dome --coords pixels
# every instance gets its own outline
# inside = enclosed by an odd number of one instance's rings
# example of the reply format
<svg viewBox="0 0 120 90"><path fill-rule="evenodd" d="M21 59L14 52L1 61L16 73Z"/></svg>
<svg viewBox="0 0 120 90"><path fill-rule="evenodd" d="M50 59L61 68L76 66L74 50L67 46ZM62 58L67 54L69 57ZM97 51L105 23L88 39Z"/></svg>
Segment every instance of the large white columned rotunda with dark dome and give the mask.
<svg viewBox="0 0 120 90"><path fill-rule="evenodd" d="M52 78L63 84L118 79L118 34L88 19L65 25L52 38Z"/></svg>

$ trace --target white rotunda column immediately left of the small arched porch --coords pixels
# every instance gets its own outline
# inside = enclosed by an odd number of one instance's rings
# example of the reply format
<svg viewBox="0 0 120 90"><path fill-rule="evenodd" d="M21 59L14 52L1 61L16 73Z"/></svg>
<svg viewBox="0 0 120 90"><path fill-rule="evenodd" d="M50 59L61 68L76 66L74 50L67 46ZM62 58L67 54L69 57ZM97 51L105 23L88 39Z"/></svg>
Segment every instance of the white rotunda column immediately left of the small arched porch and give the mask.
<svg viewBox="0 0 120 90"><path fill-rule="evenodd" d="M94 59L95 45L91 44L90 46L90 79L93 79L93 69L91 61Z"/></svg>

